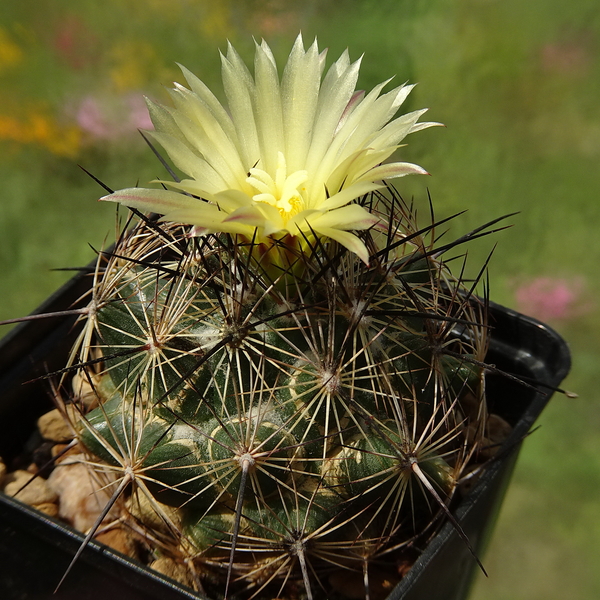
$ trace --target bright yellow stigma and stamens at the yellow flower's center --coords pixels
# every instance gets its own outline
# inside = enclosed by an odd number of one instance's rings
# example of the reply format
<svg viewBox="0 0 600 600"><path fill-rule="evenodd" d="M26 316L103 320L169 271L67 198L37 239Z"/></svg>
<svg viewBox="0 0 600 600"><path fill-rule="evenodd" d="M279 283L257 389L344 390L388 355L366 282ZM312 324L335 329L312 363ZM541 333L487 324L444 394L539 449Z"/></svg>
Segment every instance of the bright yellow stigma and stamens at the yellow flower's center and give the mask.
<svg viewBox="0 0 600 600"><path fill-rule="evenodd" d="M266 202L279 210L282 217L290 217L304 208L302 185L308 179L306 171L295 171L287 174L287 164L282 152L277 155L275 178L262 169L250 169L246 181L258 192L252 199L255 202Z"/></svg>

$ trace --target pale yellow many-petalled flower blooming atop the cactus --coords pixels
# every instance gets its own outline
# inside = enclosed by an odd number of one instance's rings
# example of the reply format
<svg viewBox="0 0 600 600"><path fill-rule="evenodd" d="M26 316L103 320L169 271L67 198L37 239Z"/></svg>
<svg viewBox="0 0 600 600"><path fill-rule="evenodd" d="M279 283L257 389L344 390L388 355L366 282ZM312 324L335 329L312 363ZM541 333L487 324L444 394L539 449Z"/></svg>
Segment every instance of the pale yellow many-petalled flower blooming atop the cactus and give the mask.
<svg viewBox="0 0 600 600"><path fill-rule="evenodd" d="M173 163L189 178L171 190L125 189L103 200L189 224L195 235L225 232L303 246L332 238L367 262L364 243L351 233L377 219L352 201L383 179L426 171L382 164L425 110L395 117L412 85L382 93L355 91L360 60L348 52L323 77L325 52L298 36L280 78L269 46L256 44L254 77L231 45L221 56L225 109L206 85L182 67L187 89L170 90L174 107L149 102L156 131ZM394 118L395 117L395 118ZM271 238L271 240L269 240Z"/></svg>

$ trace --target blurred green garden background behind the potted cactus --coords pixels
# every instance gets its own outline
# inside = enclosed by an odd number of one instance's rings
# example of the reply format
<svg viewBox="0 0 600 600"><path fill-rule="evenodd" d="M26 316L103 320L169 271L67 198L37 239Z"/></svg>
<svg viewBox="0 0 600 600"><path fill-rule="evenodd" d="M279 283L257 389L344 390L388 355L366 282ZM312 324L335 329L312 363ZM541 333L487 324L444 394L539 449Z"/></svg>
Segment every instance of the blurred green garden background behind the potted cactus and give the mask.
<svg viewBox="0 0 600 600"><path fill-rule="evenodd" d="M573 370L526 441L473 600L600 598L600 6L597 0L3 0L0 3L0 319L28 313L114 238L98 185L163 169L137 133L142 94L166 101L185 64L219 90L218 49L284 60L298 31L330 60L365 54L360 87L419 82L435 128L400 180L460 235L520 211L493 244L492 298L549 322ZM6 328L5 328L6 330Z"/></svg>

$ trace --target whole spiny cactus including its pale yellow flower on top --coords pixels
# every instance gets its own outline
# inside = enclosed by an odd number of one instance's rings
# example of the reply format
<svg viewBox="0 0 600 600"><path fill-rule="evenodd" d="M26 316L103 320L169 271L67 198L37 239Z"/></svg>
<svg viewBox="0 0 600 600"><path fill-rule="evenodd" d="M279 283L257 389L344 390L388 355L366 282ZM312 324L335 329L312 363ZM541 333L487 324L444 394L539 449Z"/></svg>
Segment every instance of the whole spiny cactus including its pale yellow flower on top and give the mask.
<svg viewBox="0 0 600 600"><path fill-rule="evenodd" d="M390 121L410 86L354 93L347 54L321 85L323 58L298 38L280 90L266 44L256 80L230 48L229 113L188 72L175 109L150 104L191 178L105 198L138 220L98 259L65 369L93 386L90 468L214 598L381 597L485 436L485 302L378 183L424 173L380 163L433 123Z"/></svg>

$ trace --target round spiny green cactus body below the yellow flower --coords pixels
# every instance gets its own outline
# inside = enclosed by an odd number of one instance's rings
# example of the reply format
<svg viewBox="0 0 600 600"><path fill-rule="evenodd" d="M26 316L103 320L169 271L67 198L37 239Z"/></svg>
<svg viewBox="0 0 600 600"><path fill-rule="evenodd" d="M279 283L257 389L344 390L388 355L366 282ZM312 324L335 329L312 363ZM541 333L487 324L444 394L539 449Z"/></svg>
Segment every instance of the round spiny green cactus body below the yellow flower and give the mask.
<svg viewBox="0 0 600 600"><path fill-rule="evenodd" d="M343 598L341 570L376 598L478 451L484 303L393 189L364 203L390 223L362 234L368 266L328 241L273 280L252 242L144 220L100 258L79 438L174 507L149 538L211 596Z"/></svg>

